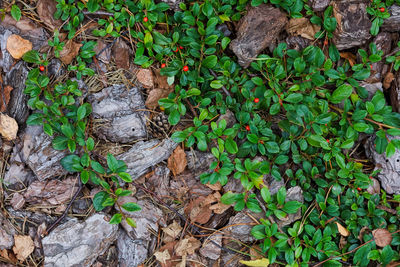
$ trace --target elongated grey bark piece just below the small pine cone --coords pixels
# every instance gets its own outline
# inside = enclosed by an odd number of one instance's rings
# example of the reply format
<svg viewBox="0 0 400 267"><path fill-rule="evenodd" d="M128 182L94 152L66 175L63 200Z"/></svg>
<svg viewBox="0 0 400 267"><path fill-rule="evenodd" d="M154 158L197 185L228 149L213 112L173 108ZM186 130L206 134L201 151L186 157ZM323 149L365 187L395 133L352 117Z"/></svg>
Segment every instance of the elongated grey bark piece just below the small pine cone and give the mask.
<svg viewBox="0 0 400 267"><path fill-rule="evenodd" d="M150 140L135 143L127 152L116 158L126 162L127 172L132 179L137 179L146 173L147 169L169 158L178 144L171 139L163 141Z"/></svg>

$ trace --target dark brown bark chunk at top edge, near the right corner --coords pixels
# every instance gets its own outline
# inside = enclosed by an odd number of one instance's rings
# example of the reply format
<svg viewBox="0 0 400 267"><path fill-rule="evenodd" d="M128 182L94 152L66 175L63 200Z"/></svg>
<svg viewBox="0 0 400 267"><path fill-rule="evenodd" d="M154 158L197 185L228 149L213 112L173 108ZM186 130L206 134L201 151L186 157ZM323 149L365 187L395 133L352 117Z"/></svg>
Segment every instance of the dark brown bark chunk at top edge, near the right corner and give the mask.
<svg viewBox="0 0 400 267"><path fill-rule="evenodd" d="M333 41L338 50L344 50L366 43L371 37L371 20L366 8L369 1L333 1L333 15L337 21Z"/></svg>

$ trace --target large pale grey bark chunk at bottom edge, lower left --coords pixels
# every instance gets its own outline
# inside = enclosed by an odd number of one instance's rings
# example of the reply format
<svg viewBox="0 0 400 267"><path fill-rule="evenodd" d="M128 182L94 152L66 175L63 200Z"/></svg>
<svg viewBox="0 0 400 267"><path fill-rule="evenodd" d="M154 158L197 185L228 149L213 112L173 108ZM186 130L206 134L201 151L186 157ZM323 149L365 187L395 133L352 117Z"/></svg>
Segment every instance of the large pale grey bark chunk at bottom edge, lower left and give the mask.
<svg viewBox="0 0 400 267"><path fill-rule="evenodd" d="M103 214L79 223L76 219L57 226L42 239L44 266L91 266L117 238L118 226Z"/></svg>

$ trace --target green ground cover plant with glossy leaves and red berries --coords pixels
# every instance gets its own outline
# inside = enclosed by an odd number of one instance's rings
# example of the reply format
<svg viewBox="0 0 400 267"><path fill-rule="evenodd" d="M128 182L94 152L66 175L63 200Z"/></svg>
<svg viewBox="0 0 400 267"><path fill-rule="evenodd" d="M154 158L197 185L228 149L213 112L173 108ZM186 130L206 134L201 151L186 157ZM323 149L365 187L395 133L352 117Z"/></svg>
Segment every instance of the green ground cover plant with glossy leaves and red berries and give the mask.
<svg viewBox="0 0 400 267"><path fill-rule="evenodd" d="M387 9L395 2L371 1L367 12L372 35L379 33L390 16ZM272 53L264 51L243 68L228 48L231 37L220 26L239 21L247 6L263 3L291 18L306 17L320 30L304 49L279 43ZM246 265L388 266L400 260L399 195L369 193L367 188L379 170L354 156L360 139L367 135L375 136L376 151L387 157L400 149L395 138L400 135L400 114L386 104L383 92L369 96L362 85L374 63L393 63L397 71L399 52L384 57L371 43L368 49L357 50L355 64L340 60L332 40L337 26L332 6L315 13L308 1L185 1L179 8L174 12L168 4L153 0L57 0L54 17L64 21L60 31L73 39L84 20L83 11L106 11L110 15L97 20L92 34L111 40L128 36L136 46L136 65L160 66L161 75L174 85L173 92L159 100L160 109L172 126L190 119L188 127L170 138L215 157L201 182L224 186L229 179L240 180L243 192L225 192L222 203L233 205L235 211L265 215L251 231L258 240L262 265L256 265L257 260ZM17 5L10 12L20 19ZM64 45L56 31L49 41L52 55L59 57ZM95 45L95 41L82 41L68 67L76 78L95 73L88 67ZM87 129L91 106L76 81L50 85L49 56L35 50L23 56L31 64L25 93L34 110L27 124L43 125L44 132L53 136L53 148L69 152L61 160L66 170L79 173L83 184L91 181L103 188L93 199L95 209L101 211L132 193L121 185L132 178L126 164L111 153L107 166L91 153L95 147ZM236 122L217 122L228 110ZM300 186L304 203L285 201L285 187L271 194L265 175ZM126 220L135 226L122 209L138 211L140 206L132 202L118 207L110 223ZM281 228L274 222L273 218L281 220L298 211L301 220L288 226Z"/></svg>

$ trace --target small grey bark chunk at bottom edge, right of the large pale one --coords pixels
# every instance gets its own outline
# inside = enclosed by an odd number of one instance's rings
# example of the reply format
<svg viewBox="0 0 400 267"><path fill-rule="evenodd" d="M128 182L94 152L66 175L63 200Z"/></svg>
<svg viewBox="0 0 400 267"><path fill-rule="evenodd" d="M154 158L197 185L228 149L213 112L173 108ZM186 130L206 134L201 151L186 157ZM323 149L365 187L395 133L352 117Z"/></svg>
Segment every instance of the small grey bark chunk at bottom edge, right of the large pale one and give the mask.
<svg viewBox="0 0 400 267"><path fill-rule="evenodd" d="M147 258L147 242L130 238L123 230L117 240L120 267L136 267Z"/></svg>

